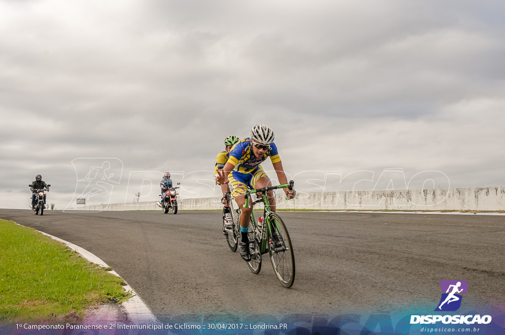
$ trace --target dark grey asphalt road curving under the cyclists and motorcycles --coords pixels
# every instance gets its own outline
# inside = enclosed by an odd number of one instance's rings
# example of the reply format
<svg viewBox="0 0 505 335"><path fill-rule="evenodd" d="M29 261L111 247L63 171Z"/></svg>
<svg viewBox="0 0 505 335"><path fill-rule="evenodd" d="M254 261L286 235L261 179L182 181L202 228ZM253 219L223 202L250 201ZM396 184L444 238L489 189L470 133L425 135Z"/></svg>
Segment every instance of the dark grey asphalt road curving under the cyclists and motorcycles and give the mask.
<svg viewBox="0 0 505 335"><path fill-rule="evenodd" d="M87 249L160 320L433 311L440 280L469 283L465 305L505 301L505 216L280 212L296 278L282 288L226 245L219 211L99 213L0 209L0 218ZM413 307L415 306L415 307Z"/></svg>

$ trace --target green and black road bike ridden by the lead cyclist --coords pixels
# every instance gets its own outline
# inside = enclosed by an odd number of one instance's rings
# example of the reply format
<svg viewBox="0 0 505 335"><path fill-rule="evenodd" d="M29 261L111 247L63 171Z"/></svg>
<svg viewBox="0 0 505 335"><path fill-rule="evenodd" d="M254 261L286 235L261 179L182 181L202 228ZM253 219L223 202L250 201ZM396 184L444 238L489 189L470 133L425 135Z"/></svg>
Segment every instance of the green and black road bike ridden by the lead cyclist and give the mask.
<svg viewBox="0 0 505 335"><path fill-rule="evenodd" d="M270 209L267 192L286 187L289 190L293 190L293 186L294 182L290 181L284 185L248 190L244 195L245 204L243 205L244 208L248 207L249 203L253 207L257 203L265 205L263 210L263 225L261 227L258 226L254 211L251 213L248 231L249 251L251 255L251 260L247 262L249 269L252 273L259 273L261 270L262 255L268 252L277 279L285 288L290 288L294 283L293 246L291 245L291 238L284 221ZM252 194L257 195L256 201L252 201Z"/></svg>

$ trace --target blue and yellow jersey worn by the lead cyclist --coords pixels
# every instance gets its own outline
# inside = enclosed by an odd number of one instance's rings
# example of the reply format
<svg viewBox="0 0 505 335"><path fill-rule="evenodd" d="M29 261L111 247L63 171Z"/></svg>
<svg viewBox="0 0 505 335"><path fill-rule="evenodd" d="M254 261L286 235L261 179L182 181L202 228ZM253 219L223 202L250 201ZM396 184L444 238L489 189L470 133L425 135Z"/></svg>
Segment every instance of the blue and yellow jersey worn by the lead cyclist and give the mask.
<svg viewBox="0 0 505 335"><path fill-rule="evenodd" d="M256 170L257 167L260 166L260 164L268 157L270 157L272 163L281 161L275 143L270 143L270 148L265 152L263 157L258 158L254 152L252 152L250 138L245 138L235 143L235 145L231 148L228 162L238 166L236 170L240 173L251 173Z"/></svg>

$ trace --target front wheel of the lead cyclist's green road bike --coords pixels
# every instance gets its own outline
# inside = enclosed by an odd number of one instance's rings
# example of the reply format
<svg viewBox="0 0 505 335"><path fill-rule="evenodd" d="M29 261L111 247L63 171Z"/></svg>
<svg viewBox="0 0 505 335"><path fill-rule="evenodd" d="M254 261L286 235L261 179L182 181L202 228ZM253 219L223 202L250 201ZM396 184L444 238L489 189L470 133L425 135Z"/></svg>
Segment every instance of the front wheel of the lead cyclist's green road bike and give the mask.
<svg viewBox="0 0 505 335"><path fill-rule="evenodd" d="M291 238L284 221L277 214L270 214L270 225L273 236L270 237L268 254L275 275L282 286L290 288L294 283L294 253ZM277 233L277 234L276 234Z"/></svg>

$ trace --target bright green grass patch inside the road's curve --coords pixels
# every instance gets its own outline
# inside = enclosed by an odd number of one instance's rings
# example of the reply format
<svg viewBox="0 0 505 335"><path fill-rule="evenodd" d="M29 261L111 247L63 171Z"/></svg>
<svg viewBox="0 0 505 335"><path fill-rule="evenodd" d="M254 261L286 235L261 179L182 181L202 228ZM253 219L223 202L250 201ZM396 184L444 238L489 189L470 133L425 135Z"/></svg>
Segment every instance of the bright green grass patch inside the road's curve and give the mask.
<svg viewBox="0 0 505 335"><path fill-rule="evenodd" d="M131 296L121 278L34 229L0 219L0 324L78 322Z"/></svg>

